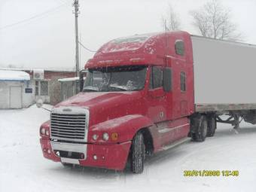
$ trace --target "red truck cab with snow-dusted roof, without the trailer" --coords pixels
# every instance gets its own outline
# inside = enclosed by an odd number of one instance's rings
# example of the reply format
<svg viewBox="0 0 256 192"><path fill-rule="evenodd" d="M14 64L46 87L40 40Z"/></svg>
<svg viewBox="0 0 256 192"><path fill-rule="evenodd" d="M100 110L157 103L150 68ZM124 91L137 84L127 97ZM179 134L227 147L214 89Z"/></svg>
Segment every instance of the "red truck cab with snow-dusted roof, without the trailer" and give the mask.
<svg viewBox="0 0 256 192"><path fill-rule="evenodd" d="M143 171L145 156L187 139L194 114L190 35L165 32L117 38L84 66L81 93L55 105L41 125L44 157Z"/></svg>

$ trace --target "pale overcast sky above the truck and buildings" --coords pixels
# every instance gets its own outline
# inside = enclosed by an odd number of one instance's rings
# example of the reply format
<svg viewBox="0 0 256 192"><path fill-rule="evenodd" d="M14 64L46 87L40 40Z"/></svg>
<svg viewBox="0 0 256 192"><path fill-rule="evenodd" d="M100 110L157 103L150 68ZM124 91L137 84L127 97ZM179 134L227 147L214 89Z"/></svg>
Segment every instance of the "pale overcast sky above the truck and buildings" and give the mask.
<svg viewBox="0 0 256 192"><path fill-rule="evenodd" d="M75 19L72 2L0 0L0 67L74 68ZM78 22L81 42L91 50L97 50L113 38L163 31L161 17L169 3L181 19L181 28L198 34L191 25L192 18L188 12L200 8L205 2L80 0ZM245 42L256 44L256 1L222 0L221 3L231 9L233 21L245 37ZM93 53L81 48L81 66L92 56Z"/></svg>

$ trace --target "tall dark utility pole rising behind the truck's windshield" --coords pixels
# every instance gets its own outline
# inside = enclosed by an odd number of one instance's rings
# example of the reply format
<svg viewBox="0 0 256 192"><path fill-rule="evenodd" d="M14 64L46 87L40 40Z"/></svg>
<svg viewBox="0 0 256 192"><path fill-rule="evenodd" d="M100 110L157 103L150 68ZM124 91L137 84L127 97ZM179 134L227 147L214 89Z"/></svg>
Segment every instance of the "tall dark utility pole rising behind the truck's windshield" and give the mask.
<svg viewBox="0 0 256 192"><path fill-rule="evenodd" d="M73 4L75 11L73 12L75 14L75 72L76 76L79 76L79 47L78 47L78 14L79 14L79 4L78 0L74 0Z"/></svg>

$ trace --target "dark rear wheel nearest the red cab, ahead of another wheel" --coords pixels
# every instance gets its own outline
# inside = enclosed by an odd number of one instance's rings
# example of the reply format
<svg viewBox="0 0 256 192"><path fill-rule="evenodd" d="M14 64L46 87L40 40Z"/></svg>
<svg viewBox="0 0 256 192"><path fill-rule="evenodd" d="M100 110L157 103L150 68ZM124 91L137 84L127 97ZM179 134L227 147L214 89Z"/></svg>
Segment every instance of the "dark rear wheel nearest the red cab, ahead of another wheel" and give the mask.
<svg viewBox="0 0 256 192"><path fill-rule="evenodd" d="M207 120L205 115L194 117L193 126L196 127L195 132L191 133L191 138L195 142L203 142L207 135Z"/></svg>

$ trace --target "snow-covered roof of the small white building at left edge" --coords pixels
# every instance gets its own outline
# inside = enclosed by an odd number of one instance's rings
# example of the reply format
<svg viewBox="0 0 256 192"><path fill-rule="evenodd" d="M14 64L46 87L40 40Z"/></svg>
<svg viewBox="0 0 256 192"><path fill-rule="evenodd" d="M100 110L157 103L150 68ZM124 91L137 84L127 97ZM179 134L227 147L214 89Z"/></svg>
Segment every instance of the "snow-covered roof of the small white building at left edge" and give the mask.
<svg viewBox="0 0 256 192"><path fill-rule="evenodd" d="M0 81L29 81L30 76L26 72L0 70Z"/></svg>

